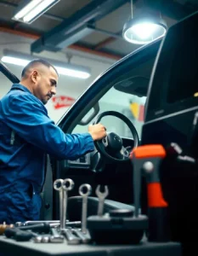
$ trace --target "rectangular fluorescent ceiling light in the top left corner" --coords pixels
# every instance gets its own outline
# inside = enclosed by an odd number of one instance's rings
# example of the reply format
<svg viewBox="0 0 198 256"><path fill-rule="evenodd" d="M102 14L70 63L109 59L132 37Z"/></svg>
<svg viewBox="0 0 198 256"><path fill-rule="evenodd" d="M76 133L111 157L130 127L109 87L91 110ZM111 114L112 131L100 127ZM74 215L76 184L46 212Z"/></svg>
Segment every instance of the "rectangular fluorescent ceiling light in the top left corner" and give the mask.
<svg viewBox="0 0 198 256"><path fill-rule="evenodd" d="M16 9L13 20L30 24L58 2L59 0L25 0Z"/></svg>

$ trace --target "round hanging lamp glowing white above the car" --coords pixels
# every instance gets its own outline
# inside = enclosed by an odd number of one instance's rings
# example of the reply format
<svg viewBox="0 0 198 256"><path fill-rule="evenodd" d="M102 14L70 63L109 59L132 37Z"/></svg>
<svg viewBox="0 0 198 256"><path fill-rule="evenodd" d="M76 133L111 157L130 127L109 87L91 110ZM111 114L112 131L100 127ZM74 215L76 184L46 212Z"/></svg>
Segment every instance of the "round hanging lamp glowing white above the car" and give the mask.
<svg viewBox="0 0 198 256"><path fill-rule="evenodd" d="M132 15L133 15L133 1ZM161 38L167 32L167 23L160 15L143 13L139 17L128 20L122 31L123 38L131 44L149 44Z"/></svg>

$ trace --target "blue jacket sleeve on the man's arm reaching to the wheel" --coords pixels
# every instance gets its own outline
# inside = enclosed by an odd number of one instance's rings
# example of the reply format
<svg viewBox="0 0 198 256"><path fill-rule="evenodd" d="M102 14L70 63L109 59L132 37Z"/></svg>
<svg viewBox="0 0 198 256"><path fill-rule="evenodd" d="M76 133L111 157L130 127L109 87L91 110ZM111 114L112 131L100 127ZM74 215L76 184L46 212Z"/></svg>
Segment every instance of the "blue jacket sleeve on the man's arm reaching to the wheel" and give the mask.
<svg viewBox="0 0 198 256"><path fill-rule="evenodd" d="M30 94L8 96L3 116L7 125L27 143L41 148L57 159L74 160L93 151L89 133L65 134L48 118L46 108Z"/></svg>

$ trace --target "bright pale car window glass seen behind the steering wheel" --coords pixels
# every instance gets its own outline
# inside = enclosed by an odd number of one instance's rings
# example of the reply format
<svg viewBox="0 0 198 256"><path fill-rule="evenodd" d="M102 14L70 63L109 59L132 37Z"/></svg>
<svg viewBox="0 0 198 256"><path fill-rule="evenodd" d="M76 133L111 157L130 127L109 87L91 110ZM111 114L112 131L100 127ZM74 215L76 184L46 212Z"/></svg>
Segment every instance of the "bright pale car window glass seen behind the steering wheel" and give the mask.
<svg viewBox="0 0 198 256"><path fill-rule="evenodd" d="M110 110L123 113L125 116L127 116L128 119L132 121L140 136L144 120L145 100L145 96L134 96L122 91L118 91L114 87L111 87L110 90L99 100L99 113ZM93 110L90 110L86 116L92 112ZM86 116L84 119L86 119ZM90 122L90 125L93 124L93 120ZM127 125L125 125L121 119L106 116L105 118L101 119L100 122L105 125L107 131L114 131L121 137L132 137L132 134L127 128ZM76 125L73 132L87 131L88 125Z"/></svg>

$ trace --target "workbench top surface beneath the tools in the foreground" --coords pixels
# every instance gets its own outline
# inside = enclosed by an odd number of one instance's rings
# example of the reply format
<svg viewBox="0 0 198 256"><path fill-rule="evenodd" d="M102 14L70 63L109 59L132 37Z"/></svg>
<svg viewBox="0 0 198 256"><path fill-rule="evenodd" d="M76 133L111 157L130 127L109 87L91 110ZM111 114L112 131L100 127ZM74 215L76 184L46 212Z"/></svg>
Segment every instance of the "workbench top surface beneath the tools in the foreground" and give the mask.
<svg viewBox="0 0 198 256"><path fill-rule="evenodd" d="M147 242L141 241L138 245L67 245L64 243L35 243L34 241L14 241L0 236L1 253L17 256L181 256L181 247L177 242ZM0 253L0 255L2 255Z"/></svg>

